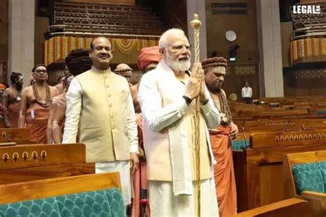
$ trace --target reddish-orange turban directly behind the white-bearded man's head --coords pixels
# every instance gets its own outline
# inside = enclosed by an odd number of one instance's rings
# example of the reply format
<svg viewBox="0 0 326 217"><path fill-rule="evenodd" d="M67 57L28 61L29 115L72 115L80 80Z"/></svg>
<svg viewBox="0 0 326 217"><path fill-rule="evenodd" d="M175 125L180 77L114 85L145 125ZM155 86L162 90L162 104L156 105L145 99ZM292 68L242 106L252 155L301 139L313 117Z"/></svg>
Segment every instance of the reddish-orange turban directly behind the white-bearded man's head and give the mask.
<svg viewBox="0 0 326 217"><path fill-rule="evenodd" d="M158 46L144 47L140 50L138 56L138 69L144 70L144 67L151 64L152 62L160 62L161 56Z"/></svg>

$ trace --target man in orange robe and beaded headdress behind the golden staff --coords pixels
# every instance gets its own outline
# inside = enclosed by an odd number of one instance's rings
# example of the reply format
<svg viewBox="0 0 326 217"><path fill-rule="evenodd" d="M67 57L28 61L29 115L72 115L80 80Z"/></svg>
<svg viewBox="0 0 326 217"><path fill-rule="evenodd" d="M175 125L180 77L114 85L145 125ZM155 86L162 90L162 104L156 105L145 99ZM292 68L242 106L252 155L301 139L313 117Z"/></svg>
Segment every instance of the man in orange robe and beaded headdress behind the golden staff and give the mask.
<svg viewBox="0 0 326 217"><path fill-rule="evenodd" d="M214 157L217 159L217 164L214 165L214 177L219 216L221 217L237 213L237 189L231 139L235 139L239 131L237 125L232 122L226 93L221 89L226 75L226 63L227 61L223 57L208 58L202 61L206 86L221 116L219 126L210 130L210 142Z"/></svg>

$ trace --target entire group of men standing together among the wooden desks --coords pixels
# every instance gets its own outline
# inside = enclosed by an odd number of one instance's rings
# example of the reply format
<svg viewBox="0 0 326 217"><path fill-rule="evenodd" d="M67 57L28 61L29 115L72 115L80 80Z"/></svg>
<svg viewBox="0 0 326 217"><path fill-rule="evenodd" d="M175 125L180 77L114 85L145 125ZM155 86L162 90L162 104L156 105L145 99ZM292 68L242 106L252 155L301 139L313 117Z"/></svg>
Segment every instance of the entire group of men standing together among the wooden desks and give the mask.
<svg viewBox="0 0 326 217"><path fill-rule="evenodd" d="M202 216L237 213L230 141L239 131L221 89L226 59L208 58L190 69L191 45L180 29L140 51L137 84L129 80L129 65L111 70L112 58L110 41L98 37L89 51L67 56L56 87L47 84L45 65L35 65L24 89L23 76L13 72L3 92L5 126L30 128L39 144L85 144L96 173L120 172L132 216L196 216L197 123Z"/></svg>

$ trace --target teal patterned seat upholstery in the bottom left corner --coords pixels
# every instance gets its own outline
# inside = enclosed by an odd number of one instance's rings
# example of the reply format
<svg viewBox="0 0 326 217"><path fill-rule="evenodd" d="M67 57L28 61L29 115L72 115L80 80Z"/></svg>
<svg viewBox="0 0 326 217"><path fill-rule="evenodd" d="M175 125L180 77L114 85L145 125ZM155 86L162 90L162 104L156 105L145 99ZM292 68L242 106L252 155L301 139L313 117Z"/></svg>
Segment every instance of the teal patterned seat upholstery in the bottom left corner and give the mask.
<svg viewBox="0 0 326 217"><path fill-rule="evenodd" d="M0 216L125 216L118 188L0 205Z"/></svg>

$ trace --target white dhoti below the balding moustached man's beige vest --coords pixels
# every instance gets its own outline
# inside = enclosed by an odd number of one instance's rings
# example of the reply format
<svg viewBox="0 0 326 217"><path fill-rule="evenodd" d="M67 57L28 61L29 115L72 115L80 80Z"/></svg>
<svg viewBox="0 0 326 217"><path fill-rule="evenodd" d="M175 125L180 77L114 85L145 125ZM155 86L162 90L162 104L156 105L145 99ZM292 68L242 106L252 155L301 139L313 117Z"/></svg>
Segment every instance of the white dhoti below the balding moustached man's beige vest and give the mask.
<svg viewBox="0 0 326 217"><path fill-rule="evenodd" d="M124 206L131 204L131 176L130 161L113 161L106 163L95 163L95 173L118 171Z"/></svg>

